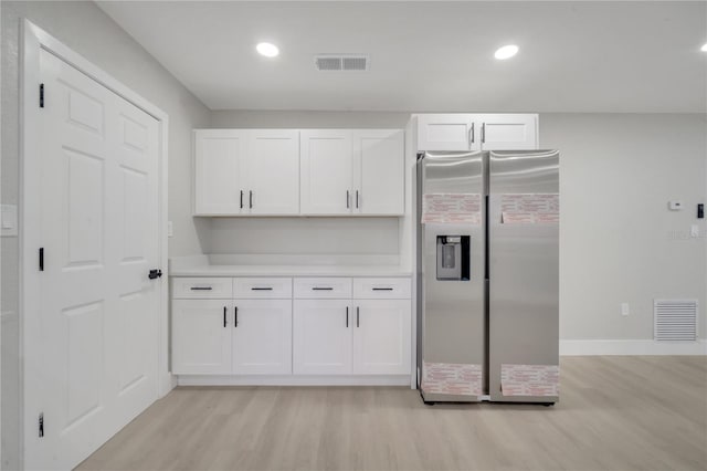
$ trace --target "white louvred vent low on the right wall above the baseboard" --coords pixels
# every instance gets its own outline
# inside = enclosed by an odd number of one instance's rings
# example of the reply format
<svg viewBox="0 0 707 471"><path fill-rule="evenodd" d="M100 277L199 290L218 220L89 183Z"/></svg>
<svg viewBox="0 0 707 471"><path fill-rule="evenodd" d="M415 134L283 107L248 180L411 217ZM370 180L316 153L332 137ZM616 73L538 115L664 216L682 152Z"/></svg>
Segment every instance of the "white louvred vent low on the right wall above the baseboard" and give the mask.
<svg viewBox="0 0 707 471"><path fill-rule="evenodd" d="M697 300L655 300L653 316L656 341L697 339Z"/></svg>

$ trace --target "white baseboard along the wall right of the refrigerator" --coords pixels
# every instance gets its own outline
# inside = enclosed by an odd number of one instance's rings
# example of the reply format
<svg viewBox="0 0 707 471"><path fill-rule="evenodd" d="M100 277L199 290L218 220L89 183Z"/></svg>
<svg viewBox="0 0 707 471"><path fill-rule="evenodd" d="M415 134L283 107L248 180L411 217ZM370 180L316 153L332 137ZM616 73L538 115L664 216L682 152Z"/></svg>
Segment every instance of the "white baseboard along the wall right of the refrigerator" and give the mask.
<svg viewBox="0 0 707 471"><path fill-rule="evenodd" d="M560 355L707 355L707 341L560 341Z"/></svg>

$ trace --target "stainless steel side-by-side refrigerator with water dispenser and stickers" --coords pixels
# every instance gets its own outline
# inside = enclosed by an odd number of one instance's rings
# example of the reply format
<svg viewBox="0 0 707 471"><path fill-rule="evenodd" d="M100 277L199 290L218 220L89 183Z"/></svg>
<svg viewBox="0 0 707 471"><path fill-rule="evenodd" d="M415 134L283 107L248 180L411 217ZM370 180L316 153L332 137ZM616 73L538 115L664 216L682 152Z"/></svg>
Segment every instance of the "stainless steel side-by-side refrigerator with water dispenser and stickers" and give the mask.
<svg viewBox="0 0 707 471"><path fill-rule="evenodd" d="M425 402L559 398L559 153L418 159L418 385Z"/></svg>

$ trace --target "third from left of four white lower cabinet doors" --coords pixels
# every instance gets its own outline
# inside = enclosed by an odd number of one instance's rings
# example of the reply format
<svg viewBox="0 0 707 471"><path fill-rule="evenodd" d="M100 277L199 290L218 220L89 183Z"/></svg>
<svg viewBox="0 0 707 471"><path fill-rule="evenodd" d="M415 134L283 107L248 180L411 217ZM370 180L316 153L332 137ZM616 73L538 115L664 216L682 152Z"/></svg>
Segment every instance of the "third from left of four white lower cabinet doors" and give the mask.
<svg viewBox="0 0 707 471"><path fill-rule="evenodd" d="M295 300L294 373L350 374L354 321L350 300Z"/></svg>

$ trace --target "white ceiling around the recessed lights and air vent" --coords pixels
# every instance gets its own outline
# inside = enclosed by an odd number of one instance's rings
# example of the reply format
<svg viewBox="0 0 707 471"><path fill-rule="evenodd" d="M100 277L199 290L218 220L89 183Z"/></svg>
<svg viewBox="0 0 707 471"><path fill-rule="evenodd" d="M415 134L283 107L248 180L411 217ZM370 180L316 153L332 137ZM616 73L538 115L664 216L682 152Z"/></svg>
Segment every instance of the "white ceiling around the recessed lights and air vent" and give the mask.
<svg viewBox="0 0 707 471"><path fill-rule="evenodd" d="M707 111L704 1L98 6L212 109ZM495 60L507 43L518 55ZM318 53L370 70L318 72Z"/></svg>

